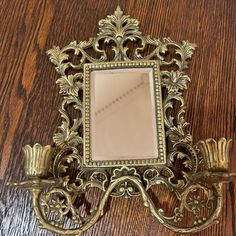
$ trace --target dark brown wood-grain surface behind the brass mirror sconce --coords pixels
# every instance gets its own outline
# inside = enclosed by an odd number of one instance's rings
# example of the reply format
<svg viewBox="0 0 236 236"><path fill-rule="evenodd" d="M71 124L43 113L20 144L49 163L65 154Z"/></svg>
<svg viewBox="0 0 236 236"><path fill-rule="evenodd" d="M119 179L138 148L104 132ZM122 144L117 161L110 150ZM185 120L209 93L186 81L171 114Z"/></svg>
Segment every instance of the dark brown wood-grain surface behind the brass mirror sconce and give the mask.
<svg viewBox="0 0 236 236"><path fill-rule="evenodd" d="M28 193L8 189L7 181L23 178L21 147L52 144L60 124L62 98L56 71L45 54L97 33L99 19L112 14L112 0L0 1L0 235L52 235L37 228ZM198 45L186 93L186 119L194 140L221 136L236 140L236 1L120 0L126 14L141 22L143 34L170 36ZM231 170L236 170L236 141ZM157 198L171 205L168 196ZM193 235L236 235L236 188L224 188L219 224ZM112 199L110 211L83 235L177 235L164 229L139 199Z"/></svg>

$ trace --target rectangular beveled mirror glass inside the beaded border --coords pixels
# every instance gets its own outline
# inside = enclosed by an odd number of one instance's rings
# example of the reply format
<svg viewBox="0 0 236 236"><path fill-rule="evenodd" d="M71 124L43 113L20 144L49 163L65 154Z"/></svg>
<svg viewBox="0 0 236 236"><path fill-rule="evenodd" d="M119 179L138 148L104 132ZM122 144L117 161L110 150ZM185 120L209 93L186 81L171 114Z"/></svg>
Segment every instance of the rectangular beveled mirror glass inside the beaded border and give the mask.
<svg viewBox="0 0 236 236"><path fill-rule="evenodd" d="M153 84L152 68L91 72L92 160L158 156Z"/></svg>

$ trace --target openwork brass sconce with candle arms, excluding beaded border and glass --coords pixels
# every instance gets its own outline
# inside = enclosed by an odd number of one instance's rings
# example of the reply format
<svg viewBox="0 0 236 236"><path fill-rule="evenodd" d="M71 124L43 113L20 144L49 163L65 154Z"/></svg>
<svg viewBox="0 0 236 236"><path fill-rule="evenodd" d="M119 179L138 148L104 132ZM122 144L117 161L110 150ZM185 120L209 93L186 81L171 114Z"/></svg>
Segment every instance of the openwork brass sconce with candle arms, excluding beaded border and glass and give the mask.
<svg viewBox="0 0 236 236"><path fill-rule="evenodd" d="M141 197L144 206L162 225L179 233L200 231L217 222L222 208L222 184L235 174L228 170L230 141L208 139L194 144L184 118L183 91L190 83L185 69L195 47L188 41L178 43L170 38L142 35L138 20L124 15L117 7L113 15L99 21L96 37L48 50L59 74L56 83L63 96L59 109L62 124L53 136L53 147L36 144L24 148L28 179L10 183L31 192L41 228L59 235L80 235L104 214L110 196ZM82 99L84 65L133 60L156 61L160 66L168 147L166 164L139 167L118 163L107 168L84 168L83 130L89 132L83 119L87 112ZM177 166L180 168L176 169ZM179 201L171 215L155 206L147 192L157 184L165 185ZM82 201L91 188L104 194L98 206L85 215L82 208L85 203L78 205L76 199ZM190 219L190 214L193 220L185 224L184 219ZM71 228L65 227L65 219L71 220Z"/></svg>

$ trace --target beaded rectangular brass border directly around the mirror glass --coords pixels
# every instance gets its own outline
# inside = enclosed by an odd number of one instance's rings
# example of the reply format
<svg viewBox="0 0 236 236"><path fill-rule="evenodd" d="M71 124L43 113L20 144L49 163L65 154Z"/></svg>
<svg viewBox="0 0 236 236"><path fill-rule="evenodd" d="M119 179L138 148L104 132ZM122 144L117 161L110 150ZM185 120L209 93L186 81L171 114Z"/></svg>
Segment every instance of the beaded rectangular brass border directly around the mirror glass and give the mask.
<svg viewBox="0 0 236 236"><path fill-rule="evenodd" d="M155 120L157 130L157 146L158 156L147 159L128 160L104 160L94 161L91 155L91 109L90 109L90 76L93 71L104 71L111 69L127 69L127 68L151 68L153 71L153 87L155 100ZM115 89L115 88L114 88ZM84 156L83 165L86 167L116 167L116 166L145 166L145 165L161 165L166 163L166 146L165 146L165 130L162 108L162 94L160 81L159 63L154 60L139 60L139 61L119 61L119 62L100 62L100 63L86 63L84 64L84 87L83 87L83 101L84 101Z"/></svg>

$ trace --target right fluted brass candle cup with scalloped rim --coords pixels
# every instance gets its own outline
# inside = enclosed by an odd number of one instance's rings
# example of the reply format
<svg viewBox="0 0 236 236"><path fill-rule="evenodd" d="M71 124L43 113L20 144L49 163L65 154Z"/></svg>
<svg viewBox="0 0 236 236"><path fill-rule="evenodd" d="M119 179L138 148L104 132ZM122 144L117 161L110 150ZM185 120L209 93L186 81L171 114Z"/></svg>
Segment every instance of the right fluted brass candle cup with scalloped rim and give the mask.
<svg viewBox="0 0 236 236"><path fill-rule="evenodd" d="M225 138L220 138L217 142L215 139L210 138L198 143L209 171L228 172L229 148L231 141L232 139L226 140Z"/></svg>

